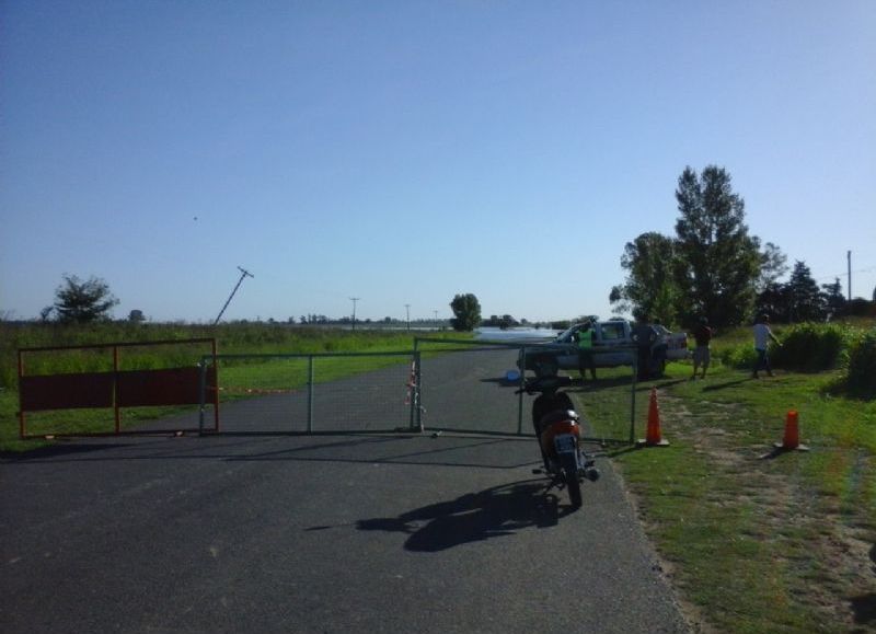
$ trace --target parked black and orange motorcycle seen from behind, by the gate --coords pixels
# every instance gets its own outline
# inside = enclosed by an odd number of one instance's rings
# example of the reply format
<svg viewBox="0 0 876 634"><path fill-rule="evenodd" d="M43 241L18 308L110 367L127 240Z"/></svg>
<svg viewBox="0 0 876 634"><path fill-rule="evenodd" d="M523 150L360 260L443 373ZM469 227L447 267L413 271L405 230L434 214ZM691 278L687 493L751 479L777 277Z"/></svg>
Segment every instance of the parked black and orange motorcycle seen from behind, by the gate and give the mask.
<svg viewBox="0 0 876 634"><path fill-rule="evenodd" d="M526 378L517 391L539 394L532 403L532 425L541 448L543 469L532 473L544 473L551 477L551 486L567 488L572 506L581 506L581 481L599 479L593 459L584 451L580 416L575 412L568 394L561 391L572 383L569 377L558 376L558 365L553 355L533 359L534 378Z"/></svg>

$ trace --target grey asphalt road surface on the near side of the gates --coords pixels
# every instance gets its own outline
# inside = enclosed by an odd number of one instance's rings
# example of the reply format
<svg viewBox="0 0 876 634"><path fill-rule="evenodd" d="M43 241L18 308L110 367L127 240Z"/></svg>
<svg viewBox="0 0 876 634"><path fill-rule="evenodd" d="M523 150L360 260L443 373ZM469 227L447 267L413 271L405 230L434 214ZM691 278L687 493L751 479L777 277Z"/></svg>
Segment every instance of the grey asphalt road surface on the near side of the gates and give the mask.
<svg viewBox="0 0 876 634"><path fill-rule="evenodd" d="M0 631L687 632L608 460L577 511L537 462L450 433L4 459Z"/></svg>

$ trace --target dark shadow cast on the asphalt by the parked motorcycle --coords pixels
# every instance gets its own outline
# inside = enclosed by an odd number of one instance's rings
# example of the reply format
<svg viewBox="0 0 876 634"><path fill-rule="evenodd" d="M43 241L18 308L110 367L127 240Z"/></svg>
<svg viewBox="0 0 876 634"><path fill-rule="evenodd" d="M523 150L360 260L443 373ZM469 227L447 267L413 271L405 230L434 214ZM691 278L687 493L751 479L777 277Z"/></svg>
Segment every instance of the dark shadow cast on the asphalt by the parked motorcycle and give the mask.
<svg viewBox="0 0 876 634"><path fill-rule="evenodd" d="M407 551L434 553L471 542L510 535L528 528L556 526L572 507L560 506L543 480L517 482L430 504L399 517L362 519L362 531L408 534Z"/></svg>

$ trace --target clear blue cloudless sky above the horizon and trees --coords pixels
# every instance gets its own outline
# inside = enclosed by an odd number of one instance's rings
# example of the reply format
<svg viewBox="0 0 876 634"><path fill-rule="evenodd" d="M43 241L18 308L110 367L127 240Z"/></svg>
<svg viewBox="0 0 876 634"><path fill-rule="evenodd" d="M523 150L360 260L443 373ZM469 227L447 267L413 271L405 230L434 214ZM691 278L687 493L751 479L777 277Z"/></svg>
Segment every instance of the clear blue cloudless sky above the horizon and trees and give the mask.
<svg viewBox="0 0 876 634"><path fill-rule="evenodd" d="M0 311L611 316L685 165L876 287L876 1L0 0Z"/></svg>

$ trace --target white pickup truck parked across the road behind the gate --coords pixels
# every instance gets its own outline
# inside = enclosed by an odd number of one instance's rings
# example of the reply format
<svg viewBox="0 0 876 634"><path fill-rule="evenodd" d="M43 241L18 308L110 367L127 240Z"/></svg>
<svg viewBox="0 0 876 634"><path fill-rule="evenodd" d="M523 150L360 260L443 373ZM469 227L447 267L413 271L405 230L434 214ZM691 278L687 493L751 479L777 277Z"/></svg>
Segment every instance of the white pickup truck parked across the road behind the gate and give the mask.
<svg viewBox="0 0 876 634"><path fill-rule="evenodd" d="M631 324L623 320L575 324L553 342L526 348L526 369L531 370L531 355L551 354L561 369L578 369L578 331L591 325L593 365L597 368L638 365L638 378L659 377L666 362L688 357L688 334L671 333L660 324Z"/></svg>

